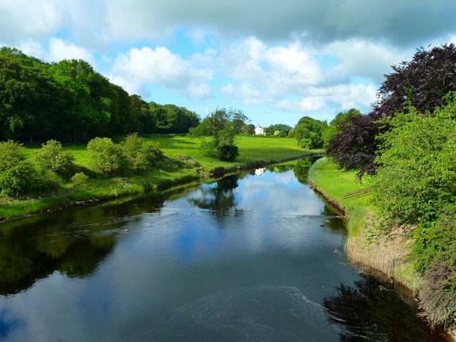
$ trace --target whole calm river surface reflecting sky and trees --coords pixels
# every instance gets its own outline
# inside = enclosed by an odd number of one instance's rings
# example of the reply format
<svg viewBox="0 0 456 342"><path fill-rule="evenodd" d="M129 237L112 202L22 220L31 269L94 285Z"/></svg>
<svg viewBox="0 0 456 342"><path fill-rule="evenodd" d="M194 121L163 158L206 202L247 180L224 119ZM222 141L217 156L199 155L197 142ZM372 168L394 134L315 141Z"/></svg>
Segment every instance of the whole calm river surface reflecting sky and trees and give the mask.
<svg viewBox="0 0 456 342"><path fill-rule="evenodd" d="M348 264L306 165L1 224L0 341L439 341Z"/></svg>

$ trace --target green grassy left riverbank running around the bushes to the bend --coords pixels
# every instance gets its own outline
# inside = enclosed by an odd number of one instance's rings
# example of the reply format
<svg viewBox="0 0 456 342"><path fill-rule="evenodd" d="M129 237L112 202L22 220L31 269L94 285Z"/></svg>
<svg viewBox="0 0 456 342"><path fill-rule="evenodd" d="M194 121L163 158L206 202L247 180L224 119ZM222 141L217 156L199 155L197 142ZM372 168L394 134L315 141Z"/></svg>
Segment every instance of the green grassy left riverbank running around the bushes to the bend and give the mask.
<svg viewBox="0 0 456 342"><path fill-rule="evenodd" d="M222 162L207 157L199 149L199 139L182 136L153 136L160 142L167 158L165 167L131 177L105 177L91 169L85 146L67 146L88 180L82 184L66 183L58 191L35 197L0 197L0 221L49 212L71 205L85 205L125 196L162 191L188 182L204 182L227 172L274 164L301 157L318 155L321 150L305 151L289 138L238 137L239 157L236 162ZM30 157L38 147L28 148Z"/></svg>

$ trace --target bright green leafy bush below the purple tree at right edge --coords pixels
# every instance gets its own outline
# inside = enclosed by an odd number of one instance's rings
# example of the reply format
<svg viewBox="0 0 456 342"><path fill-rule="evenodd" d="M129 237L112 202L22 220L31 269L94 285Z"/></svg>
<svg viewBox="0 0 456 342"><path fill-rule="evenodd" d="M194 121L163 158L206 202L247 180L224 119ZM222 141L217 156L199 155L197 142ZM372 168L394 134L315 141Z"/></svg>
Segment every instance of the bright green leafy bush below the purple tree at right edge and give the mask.
<svg viewBox="0 0 456 342"><path fill-rule="evenodd" d="M383 134L375 198L385 217L430 224L456 195L456 98L432 115L398 114Z"/></svg>

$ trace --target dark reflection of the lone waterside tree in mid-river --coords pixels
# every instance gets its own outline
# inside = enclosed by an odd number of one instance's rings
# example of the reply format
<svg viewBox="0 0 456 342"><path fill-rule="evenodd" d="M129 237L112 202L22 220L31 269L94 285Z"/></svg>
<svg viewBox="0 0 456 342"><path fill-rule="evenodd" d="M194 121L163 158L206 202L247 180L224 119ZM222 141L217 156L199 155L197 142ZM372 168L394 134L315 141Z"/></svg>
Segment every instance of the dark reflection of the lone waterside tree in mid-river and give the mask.
<svg viewBox="0 0 456 342"><path fill-rule="evenodd" d="M214 213L227 214L231 209L238 211L233 191L238 186L237 180L237 175L223 177L221 180L217 180L217 186L201 187L199 189L200 197L190 198L189 201L200 209L212 210Z"/></svg>

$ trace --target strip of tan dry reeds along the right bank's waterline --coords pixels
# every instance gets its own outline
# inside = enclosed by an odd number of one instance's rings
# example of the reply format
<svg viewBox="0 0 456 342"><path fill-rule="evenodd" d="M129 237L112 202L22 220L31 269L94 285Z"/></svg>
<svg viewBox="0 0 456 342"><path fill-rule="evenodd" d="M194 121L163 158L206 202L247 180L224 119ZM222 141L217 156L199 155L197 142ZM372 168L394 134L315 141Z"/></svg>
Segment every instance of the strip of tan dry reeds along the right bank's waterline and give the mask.
<svg viewBox="0 0 456 342"><path fill-rule="evenodd" d="M313 179L309 180L309 186L324 202L336 209L341 216L349 221L351 210L344 207L339 202L340 199L329 197L328 194L321 189L323 181L324 180L321 178L313 177ZM363 216L358 217L358 219L362 221L358 222L358 227L364 227L364 231L358 231L356 234L353 234L350 232L350 229L348 229L348 237L345 246L347 258L356 268L367 271L368 274L371 274L376 279L393 285L400 298L403 299L405 303L416 308L419 302L419 286L411 285L410 278L413 278L413 281L418 282L421 281L421 279L416 279L416 274L413 274L411 277L408 277L407 275L401 276L402 272L408 269L408 264L405 261L405 257L408 255L408 241L400 234L393 234L388 237L388 243L385 237L380 237L379 239L385 240L378 241L377 243L369 242L365 233L367 230L366 227L369 227L372 219L375 219L371 214L372 213L366 211ZM406 277L407 281L405 281ZM424 318L425 322L425 316L422 316L422 318ZM441 335L445 338L445 341L455 342L456 327L452 326L447 330L442 329Z"/></svg>

